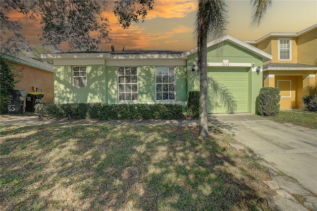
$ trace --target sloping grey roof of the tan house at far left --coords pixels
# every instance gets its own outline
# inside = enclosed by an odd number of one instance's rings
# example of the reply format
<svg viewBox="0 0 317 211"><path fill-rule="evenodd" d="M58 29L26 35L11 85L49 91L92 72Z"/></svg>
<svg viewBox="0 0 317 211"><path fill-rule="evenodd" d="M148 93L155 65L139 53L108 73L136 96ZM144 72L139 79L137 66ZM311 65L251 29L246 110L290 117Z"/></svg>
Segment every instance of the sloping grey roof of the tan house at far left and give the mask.
<svg viewBox="0 0 317 211"><path fill-rule="evenodd" d="M10 56L10 55L2 55L6 59L14 60L17 63L24 64L30 67L35 67L38 69L46 70L49 72L53 72L53 64L50 64L46 61L32 58L30 56L26 55L17 55L16 57Z"/></svg>

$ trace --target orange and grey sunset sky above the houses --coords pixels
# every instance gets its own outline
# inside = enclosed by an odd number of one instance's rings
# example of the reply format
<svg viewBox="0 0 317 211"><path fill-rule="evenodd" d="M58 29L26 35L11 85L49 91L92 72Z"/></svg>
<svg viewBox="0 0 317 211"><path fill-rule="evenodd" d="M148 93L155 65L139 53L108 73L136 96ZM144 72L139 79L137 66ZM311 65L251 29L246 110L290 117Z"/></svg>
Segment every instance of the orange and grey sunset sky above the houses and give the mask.
<svg viewBox="0 0 317 211"><path fill-rule="evenodd" d="M258 40L270 32L299 32L317 23L317 0L273 0L262 24L251 25L252 6L250 0L227 0L229 24L226 34L240 40ZM113 1L108 3L105 16L109 20L113 39L103 44L103 51L131 49L190 50L196 47L194 23L196 0L155 0L153 10L142 23L133 23L122 29L112 13ZM39 45L41 33L39 22L27 20L13 12L12 18L24 23L24 34L32 45ZM68 49L63 48L63 51Z"/></svg>

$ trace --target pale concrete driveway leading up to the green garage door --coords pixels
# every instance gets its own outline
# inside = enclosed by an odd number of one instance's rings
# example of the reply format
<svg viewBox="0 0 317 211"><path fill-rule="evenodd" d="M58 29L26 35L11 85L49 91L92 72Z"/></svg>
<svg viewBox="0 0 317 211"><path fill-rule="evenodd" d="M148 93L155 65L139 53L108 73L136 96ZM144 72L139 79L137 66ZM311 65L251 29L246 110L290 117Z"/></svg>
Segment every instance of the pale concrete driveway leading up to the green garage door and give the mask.
<svg viewBox="0 0 317 211"><path fill-rule="evenodd" d="M317 194L316 130L303 132L298 129L305 128L290 127L245 113L211 114L208 119Z"/></svg>

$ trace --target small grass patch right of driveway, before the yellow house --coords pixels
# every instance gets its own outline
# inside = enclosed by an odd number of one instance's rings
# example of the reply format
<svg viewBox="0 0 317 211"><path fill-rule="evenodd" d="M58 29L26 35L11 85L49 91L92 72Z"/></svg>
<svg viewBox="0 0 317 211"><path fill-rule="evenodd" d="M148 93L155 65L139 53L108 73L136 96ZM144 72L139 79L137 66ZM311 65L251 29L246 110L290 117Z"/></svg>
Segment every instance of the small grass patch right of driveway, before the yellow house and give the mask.
<svg viewBox="0 0 317 211"><path fill-rule="evenodd" d="M267 117L270 120L278 123L292 123L298 126L307 127L311 129L317 129L317 113L302 110L280 110L275 117Z"/></svg>

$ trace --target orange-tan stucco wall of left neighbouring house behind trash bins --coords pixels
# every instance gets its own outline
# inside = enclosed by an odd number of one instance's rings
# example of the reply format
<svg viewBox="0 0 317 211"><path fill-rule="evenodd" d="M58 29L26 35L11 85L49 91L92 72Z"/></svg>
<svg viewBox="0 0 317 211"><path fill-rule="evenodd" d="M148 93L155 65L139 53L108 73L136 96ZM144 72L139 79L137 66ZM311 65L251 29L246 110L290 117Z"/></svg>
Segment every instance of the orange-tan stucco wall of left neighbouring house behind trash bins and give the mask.
<svg viewBox="0 0 317 211"><path fill-rule="evenodd" d="M26 90L27 92L35 92L37 87L42 89L44 98L43 103L53 103L54 97L54 78L53 72L37 69L26 65L17 65L17 69L22 68L22 78L15 84L15 89ZM40 92L40 90L38 91Z"/></svg>

